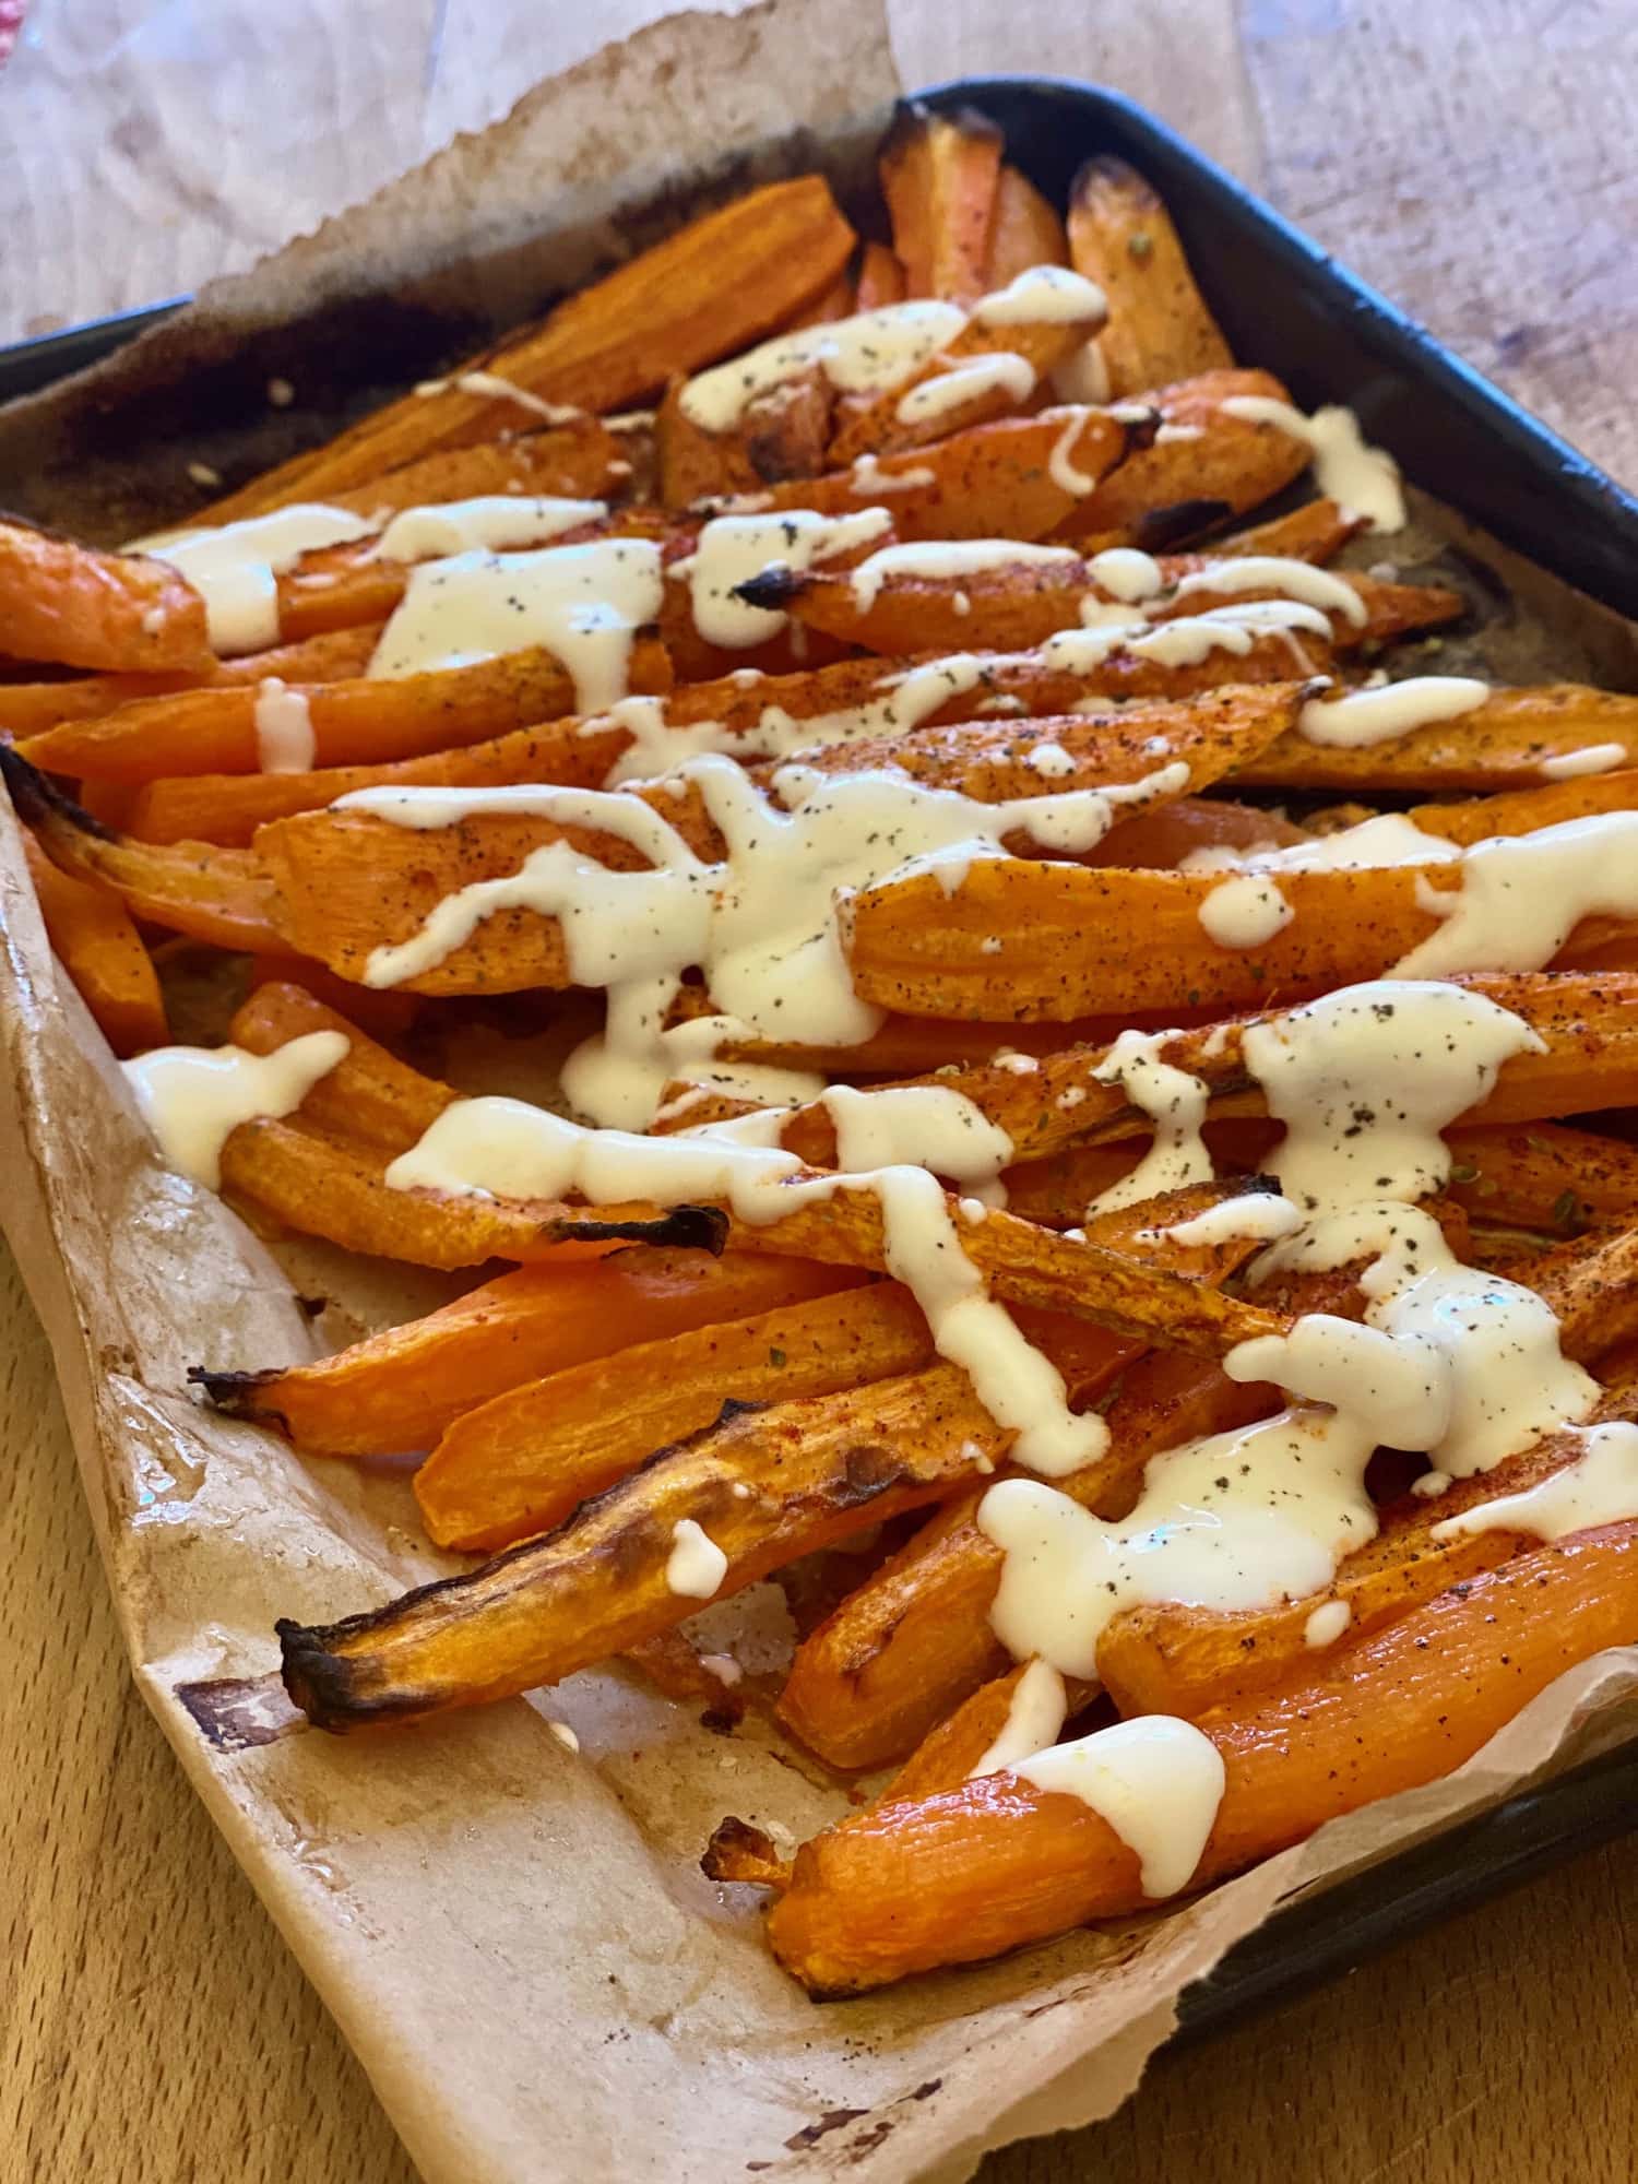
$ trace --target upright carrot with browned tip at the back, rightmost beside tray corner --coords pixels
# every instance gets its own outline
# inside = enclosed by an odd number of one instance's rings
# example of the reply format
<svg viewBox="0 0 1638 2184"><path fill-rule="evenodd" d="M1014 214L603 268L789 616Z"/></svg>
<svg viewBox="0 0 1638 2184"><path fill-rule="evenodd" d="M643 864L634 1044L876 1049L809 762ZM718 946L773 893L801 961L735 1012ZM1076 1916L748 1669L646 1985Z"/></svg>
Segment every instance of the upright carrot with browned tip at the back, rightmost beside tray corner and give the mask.
<svg viewBox="0 0 1638 2184"><path fill-rule="evenodd" d="M1171 214L1125 159L1088 159L1075 177L1068 245L1075 271L1109 299L1099 354L1112 395L1234 363Z"/></svg>

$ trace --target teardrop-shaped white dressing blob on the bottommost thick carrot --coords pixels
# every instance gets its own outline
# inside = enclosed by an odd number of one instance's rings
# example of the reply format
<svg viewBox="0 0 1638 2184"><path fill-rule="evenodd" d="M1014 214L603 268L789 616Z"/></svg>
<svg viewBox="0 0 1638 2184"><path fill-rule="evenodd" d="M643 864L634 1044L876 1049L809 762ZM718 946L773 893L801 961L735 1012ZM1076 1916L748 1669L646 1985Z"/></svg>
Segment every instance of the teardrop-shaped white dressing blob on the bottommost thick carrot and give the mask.
<svg viewBox="0 0 1638 2184"><path fill-rule="evenodd" d="M1188 1887L1225 1784L1223 1754L1175 1714L1133 1714L1020 1760L1013 1773L1090 1806L1136 1852L1151 1902Z"/></svg>

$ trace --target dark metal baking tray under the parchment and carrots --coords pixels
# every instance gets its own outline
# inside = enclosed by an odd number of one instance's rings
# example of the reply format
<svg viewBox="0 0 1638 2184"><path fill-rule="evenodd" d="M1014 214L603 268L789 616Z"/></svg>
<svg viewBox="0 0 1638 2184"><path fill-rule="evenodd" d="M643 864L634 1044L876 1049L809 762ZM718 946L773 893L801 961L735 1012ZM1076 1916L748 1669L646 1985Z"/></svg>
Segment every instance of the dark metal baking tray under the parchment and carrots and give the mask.
<svg viewBox="0 0 1638 2184"><path fill-rule="evenodd" d="M1415 485L1638 618L1638 500L1151 114L1116 92L1037 76L959 79L917 96L989 114L1009 157L1059 203L1081 162L1129 159L1164 197L1241 363L1278 371L1304 408L1348 402ZM100 360L179 301L0 349L0 402ZM1243 2022L1634 1821L1638 1743L1295 1900L1182 1996L1179 2038Z"/></svg>

